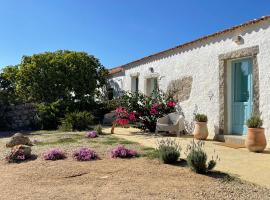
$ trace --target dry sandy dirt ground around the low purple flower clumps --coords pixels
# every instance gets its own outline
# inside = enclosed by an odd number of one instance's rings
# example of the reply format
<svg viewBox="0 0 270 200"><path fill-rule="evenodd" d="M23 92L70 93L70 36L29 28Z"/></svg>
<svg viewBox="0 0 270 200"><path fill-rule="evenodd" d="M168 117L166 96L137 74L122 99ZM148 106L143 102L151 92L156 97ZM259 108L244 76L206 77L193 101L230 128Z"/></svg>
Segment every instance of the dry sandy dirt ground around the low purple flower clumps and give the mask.
<svg viewBox="0 0 270 200"><path fill-rule="evenodd" d="M112 136L91 141L80 133L33 134L30 137L43 142L33 147L33 153L38 155L36 160L7 164L2 157L0 161L1 200L270 199L268 189L219 172L198 175L191 172L184 161L165 165L147 157L112 159L108 152L117 143L141 153L149 150ZM7 139L0 139L1 154L6 152ZM79 146L89 146L97 150L101 160L77 162L70 156L60 161L42 160L42 151L52 146L60 146L67 153Z"/></svg>

